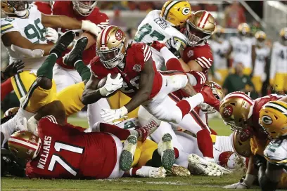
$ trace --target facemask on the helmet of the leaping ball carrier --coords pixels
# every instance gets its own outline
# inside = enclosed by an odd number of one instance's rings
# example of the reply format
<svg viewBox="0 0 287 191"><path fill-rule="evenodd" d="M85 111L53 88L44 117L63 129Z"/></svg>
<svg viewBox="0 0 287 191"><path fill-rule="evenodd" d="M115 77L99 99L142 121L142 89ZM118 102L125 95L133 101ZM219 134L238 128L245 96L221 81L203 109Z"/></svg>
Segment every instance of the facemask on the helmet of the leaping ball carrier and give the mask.
<svg viewBox="0 0 287 191"><path fill-rule="evenodd" d="M110 50L108 50L107 47L100 47L99 49L96 49L96 54L100 58L103 65L106 68L111 69L123 62L125 58L125 55L122 53L123 48L125 48L124 46L125 44L122 42L119 46L111 48Z"/></svg>

